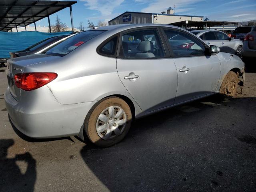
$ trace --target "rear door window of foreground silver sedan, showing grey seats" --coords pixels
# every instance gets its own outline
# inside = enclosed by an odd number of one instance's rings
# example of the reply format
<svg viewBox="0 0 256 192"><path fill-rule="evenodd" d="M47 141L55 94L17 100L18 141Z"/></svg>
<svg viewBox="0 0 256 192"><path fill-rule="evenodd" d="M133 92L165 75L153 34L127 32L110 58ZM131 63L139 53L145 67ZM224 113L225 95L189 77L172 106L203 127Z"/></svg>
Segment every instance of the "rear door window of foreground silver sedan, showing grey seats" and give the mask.
<svg viewBox="0 0 256 192"><path fill-rule="evenodd" d="M157 30L137 30L123 34L119 55L123 58L164 57Z"/></svg>

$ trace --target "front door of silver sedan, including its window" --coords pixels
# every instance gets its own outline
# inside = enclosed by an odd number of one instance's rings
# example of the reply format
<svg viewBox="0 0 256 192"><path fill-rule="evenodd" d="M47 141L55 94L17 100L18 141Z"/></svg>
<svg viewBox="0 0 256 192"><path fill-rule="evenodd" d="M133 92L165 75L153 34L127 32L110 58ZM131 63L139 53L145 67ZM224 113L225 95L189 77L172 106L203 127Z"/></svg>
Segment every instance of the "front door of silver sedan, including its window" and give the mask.
<svg viewBox="0 0 256 192"><path fill-rule="evenodd" d="M174 104L215 92L220 78L220 61L205 55L205 44L183 30L164 28L171 57L178 72Z"/></svg>

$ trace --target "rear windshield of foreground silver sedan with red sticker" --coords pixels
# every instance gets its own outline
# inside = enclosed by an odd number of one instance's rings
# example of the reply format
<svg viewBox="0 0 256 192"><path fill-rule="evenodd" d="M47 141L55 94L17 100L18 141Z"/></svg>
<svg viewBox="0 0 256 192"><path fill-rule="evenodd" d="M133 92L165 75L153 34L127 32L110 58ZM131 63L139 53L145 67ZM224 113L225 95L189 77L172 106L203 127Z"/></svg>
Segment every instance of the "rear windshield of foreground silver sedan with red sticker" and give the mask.
<svg viewBox="0 0 256 192"><path fill-rule="evenodd" d="M90 39L102 34L103 30L90 30L78 33L70 38L48 48L43 53L48 55L65 56L66 54L72 52L74 49L78 48L80 45L86 43Z"/></svg>

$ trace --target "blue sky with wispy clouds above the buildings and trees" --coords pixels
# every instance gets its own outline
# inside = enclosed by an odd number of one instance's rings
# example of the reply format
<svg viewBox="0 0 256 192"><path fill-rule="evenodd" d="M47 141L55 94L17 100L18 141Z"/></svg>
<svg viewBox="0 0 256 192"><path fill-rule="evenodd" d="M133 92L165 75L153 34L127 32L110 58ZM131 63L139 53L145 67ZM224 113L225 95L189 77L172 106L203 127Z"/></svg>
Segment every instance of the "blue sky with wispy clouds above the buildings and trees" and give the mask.
<svg viewBox="0 0 256 192"><path fill-rule="evenodd" d="M109 21L126 11L161 13L170 6L175 14L204 16L210 20L248 21L256 19L256 0L76 0L72 6L74 27L83 22L87 28L88 20L96 26L98 21ZM50 16L54 24L56 15L71 27L69 8ZM36 25L48 26L47 18Z"/></svg>

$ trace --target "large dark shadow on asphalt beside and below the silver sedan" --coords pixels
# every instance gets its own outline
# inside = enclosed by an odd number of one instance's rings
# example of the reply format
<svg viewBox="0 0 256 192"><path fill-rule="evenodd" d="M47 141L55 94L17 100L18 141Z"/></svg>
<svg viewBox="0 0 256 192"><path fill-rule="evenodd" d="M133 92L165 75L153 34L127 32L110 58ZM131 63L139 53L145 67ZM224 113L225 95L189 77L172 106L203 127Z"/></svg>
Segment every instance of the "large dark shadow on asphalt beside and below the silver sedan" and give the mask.
<svg viewBox="0 0 256 192"><path fill-rule="evenodd" d="M256 98L192 102L137 120L116 146L81 150L110 191L255 191Z"/></svg>

